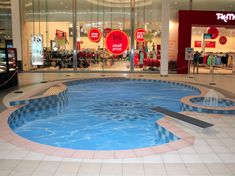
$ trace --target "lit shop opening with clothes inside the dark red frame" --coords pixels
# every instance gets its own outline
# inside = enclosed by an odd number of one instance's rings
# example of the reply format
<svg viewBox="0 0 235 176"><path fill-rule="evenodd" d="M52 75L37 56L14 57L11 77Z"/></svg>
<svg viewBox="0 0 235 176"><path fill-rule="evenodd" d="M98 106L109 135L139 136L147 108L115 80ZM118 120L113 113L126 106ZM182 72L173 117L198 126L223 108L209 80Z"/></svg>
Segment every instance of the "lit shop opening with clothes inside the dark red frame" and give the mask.
<svg viewBox="0 0 235 176"><path fill-rule="evenodd" d="M235 59L235 28L192 26L191 48L198 59L191 63L191 73L231 74ZM197 62L198 63L195 63Z"/></svg>

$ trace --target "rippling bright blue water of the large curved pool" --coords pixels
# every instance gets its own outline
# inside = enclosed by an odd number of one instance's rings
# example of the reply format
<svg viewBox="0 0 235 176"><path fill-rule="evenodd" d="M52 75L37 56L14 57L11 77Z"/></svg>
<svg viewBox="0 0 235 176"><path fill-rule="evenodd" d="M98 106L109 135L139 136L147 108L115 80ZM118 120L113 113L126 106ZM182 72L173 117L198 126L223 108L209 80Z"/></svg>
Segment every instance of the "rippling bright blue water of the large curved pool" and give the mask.
<svg viewBox="0 0 235 176"><path fill-rule="evenodd" d="M84 150L123 150L178 140L156 126L161 106L180 111L180 99L199 92L184 86L146 81L86 82L68 86L68 104L26 113L32 119L14 131L32 141ZM34 120L33 120L34 119Z"/></svg>

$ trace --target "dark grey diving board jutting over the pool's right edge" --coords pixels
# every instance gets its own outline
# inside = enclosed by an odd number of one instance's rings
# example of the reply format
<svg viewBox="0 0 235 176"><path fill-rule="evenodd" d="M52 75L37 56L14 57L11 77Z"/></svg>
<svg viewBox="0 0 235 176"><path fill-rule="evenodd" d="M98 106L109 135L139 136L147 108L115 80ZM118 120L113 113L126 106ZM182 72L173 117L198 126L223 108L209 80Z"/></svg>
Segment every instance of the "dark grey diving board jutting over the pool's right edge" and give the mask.
<svg viewBox="0 0 235 176"><path fill-rule="evenodd" d="M174 111L171 111L169 109L166 109L166 108L163 108L163 107L160 107L160 106L152 108L152 110L160 112L160 113L168 115L168 116L171 116L171 117L173 117L177 120L181 120L183 122L189 123L190 125L195 125L197 127L200 127L201 129L206 129L208 127L214 126L211 123L207 123L207 122L204 122L202 120L198 120L198 119L192 118L190 116L180 114L178 112L174 112Z"/></svg>

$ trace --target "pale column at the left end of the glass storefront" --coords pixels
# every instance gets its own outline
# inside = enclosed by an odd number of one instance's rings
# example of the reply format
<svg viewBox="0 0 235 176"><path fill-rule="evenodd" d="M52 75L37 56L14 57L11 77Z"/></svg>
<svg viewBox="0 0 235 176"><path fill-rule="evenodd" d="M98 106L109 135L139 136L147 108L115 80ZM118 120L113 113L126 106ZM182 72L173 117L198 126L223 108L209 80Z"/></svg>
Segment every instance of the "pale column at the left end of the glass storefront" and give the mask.
<svg viewBox="0 0 235 176"><path fill-rule="evenodd" d="M17 49L18 61L22 61L20 2L19 2L19 0L11 0L11 21L12 21L13 47Z"/></svg>

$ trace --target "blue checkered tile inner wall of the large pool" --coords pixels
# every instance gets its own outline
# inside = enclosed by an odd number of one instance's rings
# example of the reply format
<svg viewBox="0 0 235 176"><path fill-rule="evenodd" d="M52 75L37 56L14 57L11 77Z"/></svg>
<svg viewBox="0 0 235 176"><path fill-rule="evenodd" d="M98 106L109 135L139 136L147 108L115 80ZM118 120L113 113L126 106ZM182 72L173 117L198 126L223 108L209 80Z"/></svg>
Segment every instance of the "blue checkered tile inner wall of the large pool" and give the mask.
<svg viewBox="0 0 235 176"><path fill-rule="evenodd" d="M124 81L124 80L132 80L132 81L145 81L145 82L159 82L159 83L169 83L172 85L178 85L178 86L184 86L190 89L196 90L198 93L200 93L200 90L198 88L195 88L191 85L182 84L182 83L175 83L170 81L161 81L161 80L145 80L145 79L125 79L125 78L98 78L98 79L83 79L83 80L72 80L69 82L65 82L66 85L76 85L80 83L85 82L96 82L96 81ZM46 103L47 102L47 103ZM27 100L19 100L11 102L11 105L24 105L21 108L17 109L15 112L11 114L11 116L8 119L8 124L12 129L15 129L25 122L40 119L40 116L38 115L38 118L35 119L24 119L25 114L27 113L35 113L40 112L43 113L43 111L48 111L49 107L57 108L58 110L61 109L61 107L64 106L64 104L67 103L67 89L64 89L61 93L58 95L51 95L51 96L44 96L44 97L34 97L32 99ZM36 107L35 107L36 106ZM54 111L55 109L53 109ZM161 135L164 135L163 138L167 139L167 142L170 142L174 137L174 135L165 130L163 127L158 127L158 132L161 131Z"/></svg>

